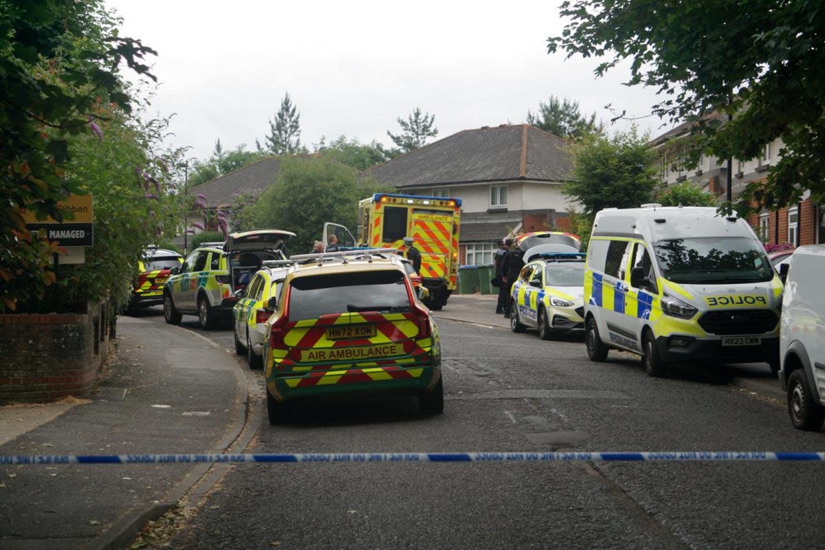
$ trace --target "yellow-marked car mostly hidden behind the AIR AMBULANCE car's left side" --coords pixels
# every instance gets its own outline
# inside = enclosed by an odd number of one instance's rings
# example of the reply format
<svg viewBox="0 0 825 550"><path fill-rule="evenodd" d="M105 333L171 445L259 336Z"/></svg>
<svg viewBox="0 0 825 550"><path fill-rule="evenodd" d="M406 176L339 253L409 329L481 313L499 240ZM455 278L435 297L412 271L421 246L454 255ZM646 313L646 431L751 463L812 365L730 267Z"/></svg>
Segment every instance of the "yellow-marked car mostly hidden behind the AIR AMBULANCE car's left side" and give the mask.
<svg viewBox="0 0 825 550"><path fill-rule="evenodd" d="M238 303L232 308L235 353L247 355L250 369L261 369L266 320L272 315L269 300L278 294L286 272L292 262L289 260L264 261L245 289L238 289L235 295Z"/></svg>

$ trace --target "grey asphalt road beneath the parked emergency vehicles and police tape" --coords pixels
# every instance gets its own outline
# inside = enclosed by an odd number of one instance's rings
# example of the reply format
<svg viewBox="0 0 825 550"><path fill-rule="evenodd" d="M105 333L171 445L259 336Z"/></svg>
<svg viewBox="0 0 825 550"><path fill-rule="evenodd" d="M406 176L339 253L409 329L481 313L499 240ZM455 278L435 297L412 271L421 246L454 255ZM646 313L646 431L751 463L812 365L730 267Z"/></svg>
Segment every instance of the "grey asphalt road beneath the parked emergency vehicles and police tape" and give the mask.
<svg viewBox="0 0 825 550"><path fill-rule="evenodd" d="M199 331L195 317L184 325ZM592 363L576 338L438 325L442 416L420 417L411 398L305 406L288 425L263 419L249 452L823 448L823 434L793 430L784 407L728 385L734 374L724 369L648 378L630 355ZM229 330L203 334L232 346ZM815 548L823 480L820 463L242 465L163 540L171 548Z"/></svg>

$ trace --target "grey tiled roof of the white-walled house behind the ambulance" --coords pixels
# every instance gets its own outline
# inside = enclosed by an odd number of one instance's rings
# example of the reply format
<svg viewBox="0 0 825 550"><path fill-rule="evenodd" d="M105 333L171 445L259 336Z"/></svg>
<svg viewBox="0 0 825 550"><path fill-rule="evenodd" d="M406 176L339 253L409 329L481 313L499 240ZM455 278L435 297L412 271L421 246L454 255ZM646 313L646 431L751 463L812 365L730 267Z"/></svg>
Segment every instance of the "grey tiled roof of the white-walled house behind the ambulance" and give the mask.
<svg viewBox="0 0 825 550"><path fill-rule="evenodd" d="M371 168L398 189L461 182L568 181L570 142L530 125L468 129Z"/></svg>

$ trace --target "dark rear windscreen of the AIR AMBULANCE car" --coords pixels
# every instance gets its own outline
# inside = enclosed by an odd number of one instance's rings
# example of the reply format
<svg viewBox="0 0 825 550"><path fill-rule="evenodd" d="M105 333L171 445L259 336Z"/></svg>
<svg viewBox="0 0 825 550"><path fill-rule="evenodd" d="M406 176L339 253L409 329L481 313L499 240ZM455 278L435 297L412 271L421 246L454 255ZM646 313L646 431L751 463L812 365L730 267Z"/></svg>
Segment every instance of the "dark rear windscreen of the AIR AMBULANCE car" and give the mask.
<svg viewBox="0 0 825 550"><path fill-rule="evenodd" d="M410 300L401 271L299 277L290 284L290 321L328 313L403 312Z"/></svg>

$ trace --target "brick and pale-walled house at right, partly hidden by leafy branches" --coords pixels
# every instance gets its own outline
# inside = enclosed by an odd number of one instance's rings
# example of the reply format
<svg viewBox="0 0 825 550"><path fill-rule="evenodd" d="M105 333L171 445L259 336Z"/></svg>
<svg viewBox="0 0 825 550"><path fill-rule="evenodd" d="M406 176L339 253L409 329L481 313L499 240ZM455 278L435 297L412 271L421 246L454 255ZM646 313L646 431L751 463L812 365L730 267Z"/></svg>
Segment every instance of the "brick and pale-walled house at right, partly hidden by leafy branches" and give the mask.
<svg viewBox="0 0 825 550"><path fill-rule="evenodd" d="M724 121L721 117L717 118ZM681 154L678 146L674 146L674 140L686 135L690 125L691 123L688 122L678 125L650 142L659 153L662 181L668 186L681 181L690 181L709 193L725 195L728 177L727 159L702 155L698 166L690 170L676 166ZM780 151L784 146L781 139L775 139L771 143L766 143L761 155L757 158L745 161L733 159L731 196L735 199L748 184L764 181L771 163L780 160ZM814 203L808 192L803 195L803 200L799 204L775 211L762 209L759 214L749 215L747 221L762 242L775 244L789 242L794 247L825 243L825 204Z"/></svg>

